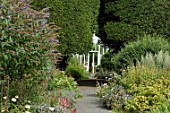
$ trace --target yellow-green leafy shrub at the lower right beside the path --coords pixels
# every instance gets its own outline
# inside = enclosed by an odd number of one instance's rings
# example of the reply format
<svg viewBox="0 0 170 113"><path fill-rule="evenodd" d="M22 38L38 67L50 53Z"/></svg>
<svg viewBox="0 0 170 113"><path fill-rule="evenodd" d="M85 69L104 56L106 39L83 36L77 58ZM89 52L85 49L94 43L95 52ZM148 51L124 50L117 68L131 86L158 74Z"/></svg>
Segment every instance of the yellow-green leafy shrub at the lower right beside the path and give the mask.
<svg viewBox="0 0 170 113"><path fill-rule="evenodd" d="M133 95L126 109L148 111L170 98L170 73L154 66L131 66L122 80L122 85Z"/></svg>

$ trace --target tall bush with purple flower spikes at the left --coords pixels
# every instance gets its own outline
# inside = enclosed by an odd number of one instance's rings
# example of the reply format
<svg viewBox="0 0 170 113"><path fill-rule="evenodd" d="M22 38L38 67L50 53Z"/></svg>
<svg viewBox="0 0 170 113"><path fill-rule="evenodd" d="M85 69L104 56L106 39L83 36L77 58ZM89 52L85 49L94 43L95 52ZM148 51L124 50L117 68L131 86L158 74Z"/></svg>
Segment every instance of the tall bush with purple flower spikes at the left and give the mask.
<svg viewBox="0 0 170 113"><path fill-rule="evenodd" d="M47 24L46 9L36 11L29 8L28 2L3 0L0 13L1 77L15 79L46 74L52 67L52 50L57 50L57 27Z"/></svg>

